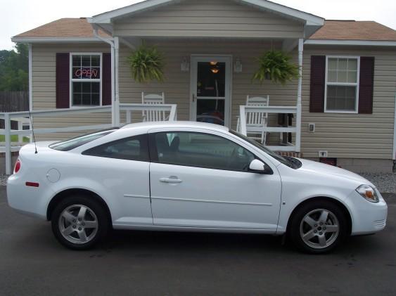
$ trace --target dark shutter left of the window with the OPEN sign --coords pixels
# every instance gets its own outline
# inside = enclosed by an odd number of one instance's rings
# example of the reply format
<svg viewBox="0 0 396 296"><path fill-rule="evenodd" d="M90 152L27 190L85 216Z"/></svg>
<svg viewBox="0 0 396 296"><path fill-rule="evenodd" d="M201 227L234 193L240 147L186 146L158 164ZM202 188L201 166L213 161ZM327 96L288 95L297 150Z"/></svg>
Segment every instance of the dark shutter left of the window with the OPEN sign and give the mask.
<svg viewBox="0 0 396 296"><path fill-rule="evenodd" d="M69 53L56 53L56 108L70 108Z"/></svg>

